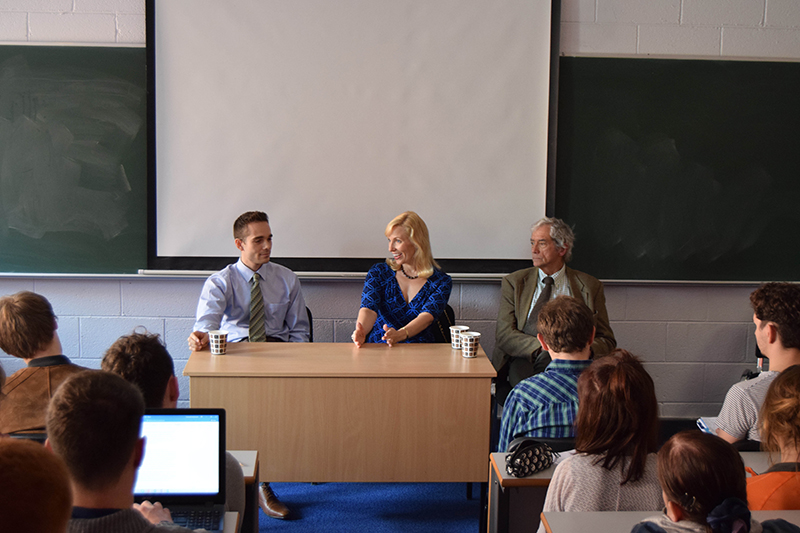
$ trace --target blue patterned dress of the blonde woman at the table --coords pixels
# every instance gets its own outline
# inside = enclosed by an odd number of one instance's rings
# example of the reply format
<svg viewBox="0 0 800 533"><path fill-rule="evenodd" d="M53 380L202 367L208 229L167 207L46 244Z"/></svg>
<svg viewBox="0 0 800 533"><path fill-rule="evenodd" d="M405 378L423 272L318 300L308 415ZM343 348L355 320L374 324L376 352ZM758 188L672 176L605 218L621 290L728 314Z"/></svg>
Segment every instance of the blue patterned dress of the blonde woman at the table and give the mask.
<svg viewBox="0 0 800 533"><path fill-rule="evenodd" d="M420 313L430 313L434 319L438 318L450 299L452 288L453 280L450 276L441 270L434 270L411 302L406 303L394 270L386 263L374 265L367 273L364 291L361 293L361 307L378 313L375 325L367 335L367 342L384 342L381 340L384 324L388 324L390 328L400 329L417 318ZM433 342L433 340L433 332L428 327L406 342Z"/></svg>

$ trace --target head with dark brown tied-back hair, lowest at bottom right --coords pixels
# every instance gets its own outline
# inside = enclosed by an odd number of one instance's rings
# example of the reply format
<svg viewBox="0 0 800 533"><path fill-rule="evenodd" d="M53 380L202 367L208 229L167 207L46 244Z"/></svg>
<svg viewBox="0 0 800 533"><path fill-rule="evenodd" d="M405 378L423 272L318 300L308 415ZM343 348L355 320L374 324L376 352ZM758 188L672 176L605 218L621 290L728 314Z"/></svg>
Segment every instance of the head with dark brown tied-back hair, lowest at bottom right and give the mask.
<svg viewBox="0 0 800 533"><path fill-rule="evenodd" d="M712 531L747 513L747 483L739 452L716 435L682 431L658 452L658 480L664 491L667 515L689 520ZM731 500L734 498L734 500Z"/></svg>

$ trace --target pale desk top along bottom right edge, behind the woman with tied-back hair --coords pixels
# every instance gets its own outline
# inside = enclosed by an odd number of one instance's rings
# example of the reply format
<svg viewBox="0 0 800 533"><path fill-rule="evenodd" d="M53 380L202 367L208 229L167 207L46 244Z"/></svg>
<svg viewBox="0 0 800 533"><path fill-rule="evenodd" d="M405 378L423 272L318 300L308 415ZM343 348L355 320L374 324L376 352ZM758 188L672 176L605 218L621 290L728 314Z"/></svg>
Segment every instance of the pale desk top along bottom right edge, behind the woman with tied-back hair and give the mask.
<svg viewBox="0 0 800 533"><path fill-rule="evenodd" d="M628 532L645 518L659 513L653 511L617 511L605 513L542 513L547 533L574 533L576 531ZM783 518L791 524L800 524L800 511L752 511L759 522Z"/></svg>

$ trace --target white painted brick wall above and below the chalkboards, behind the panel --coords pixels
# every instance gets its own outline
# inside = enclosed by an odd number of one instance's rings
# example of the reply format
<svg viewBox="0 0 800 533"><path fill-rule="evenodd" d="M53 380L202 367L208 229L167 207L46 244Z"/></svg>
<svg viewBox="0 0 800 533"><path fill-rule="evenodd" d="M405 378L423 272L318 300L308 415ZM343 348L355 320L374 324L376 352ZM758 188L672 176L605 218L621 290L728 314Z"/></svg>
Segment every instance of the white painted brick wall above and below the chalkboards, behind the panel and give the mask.
<svg viewBox="0 0 800 533"><path fill-rule="evenodd" d="M144 27L142 0L0 0L0 42L143 44ZM563 0L561 53L800 60L798 27L797 0ZM201 286L201 279L136 276L0 278L0 294L34 290L50 299L64 351L78 364L99 366L114 339L145 327L164 336L178 373ZM730 385L754 366L753 288L607 284L619 345L645 360L663 415L716 414ZM348 342L361 283L303 280L303 292L315 339ZM489 352L498 302L499 281L457 282L450 299ZM7 372L22 366L2 352L0 362ZM181 391L187 405L183 377Z"/></svg>

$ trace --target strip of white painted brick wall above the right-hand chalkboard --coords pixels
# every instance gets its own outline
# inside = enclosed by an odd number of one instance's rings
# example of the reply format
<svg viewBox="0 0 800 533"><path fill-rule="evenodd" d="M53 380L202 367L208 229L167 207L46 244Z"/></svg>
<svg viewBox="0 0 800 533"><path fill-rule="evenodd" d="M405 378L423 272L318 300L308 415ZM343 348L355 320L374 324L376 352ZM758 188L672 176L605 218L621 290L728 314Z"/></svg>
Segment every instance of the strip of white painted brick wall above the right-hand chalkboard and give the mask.
<svg viewBox="0 0 800 533"><path fill-rule="evenodd" d="M800 59L796 0L562 0L564 55Z"/></svg>

